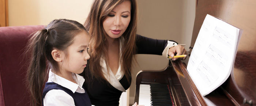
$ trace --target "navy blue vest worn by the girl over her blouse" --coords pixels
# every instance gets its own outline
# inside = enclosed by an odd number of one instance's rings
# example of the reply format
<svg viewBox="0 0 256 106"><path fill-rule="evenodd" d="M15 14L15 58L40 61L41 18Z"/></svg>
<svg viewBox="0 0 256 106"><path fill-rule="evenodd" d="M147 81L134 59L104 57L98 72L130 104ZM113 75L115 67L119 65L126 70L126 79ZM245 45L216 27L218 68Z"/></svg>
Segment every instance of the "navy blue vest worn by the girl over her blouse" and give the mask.
<svg viewBox="0 0 256 106"><path fill-rule="evenodd" d="M44 106L44 97L45 97L46 93L50 90L63 90L63 91L65 91L67 94L72 96L72 98L74 99L74 102L75 102L75 106L91 106L90 98L89 98L85 89L84 89L85 93L78 93L78 92L73 93L68 88L60 86L59 84L56 84L54 82L50 82L50 83L45 84L45 88L44 88L44 91L43 91L43 98L42 98L43 106Z"/></svg>

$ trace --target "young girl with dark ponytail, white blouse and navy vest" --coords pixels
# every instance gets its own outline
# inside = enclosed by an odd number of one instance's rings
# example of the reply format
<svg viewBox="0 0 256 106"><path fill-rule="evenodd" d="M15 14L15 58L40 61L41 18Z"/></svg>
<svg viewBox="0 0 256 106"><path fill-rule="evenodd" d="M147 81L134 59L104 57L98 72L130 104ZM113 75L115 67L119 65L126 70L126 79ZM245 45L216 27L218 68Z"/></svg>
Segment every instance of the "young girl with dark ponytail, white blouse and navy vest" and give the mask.
<svg viewBox="0 0 256 106"><path fill-rule="evenodd" d="M53 20L33 34L26 52L31 54L27 70L31 106L91 106L82 87L84 79L78 75L90 58L88 46L87 30L74 20Z"/></svg>

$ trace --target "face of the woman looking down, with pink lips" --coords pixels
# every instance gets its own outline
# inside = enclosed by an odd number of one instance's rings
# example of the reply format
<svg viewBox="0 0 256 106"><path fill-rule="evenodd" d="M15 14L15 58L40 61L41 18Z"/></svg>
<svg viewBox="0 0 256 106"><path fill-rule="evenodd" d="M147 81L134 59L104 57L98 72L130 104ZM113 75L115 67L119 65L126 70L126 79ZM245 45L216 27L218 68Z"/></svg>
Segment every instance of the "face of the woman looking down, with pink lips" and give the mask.
<svg viewBox="0 0 256 106"><path fill-rule="evenodd" d="M103 21L103 28L110 38L119 38L131 20L131 1L117 5Z"/></svg>

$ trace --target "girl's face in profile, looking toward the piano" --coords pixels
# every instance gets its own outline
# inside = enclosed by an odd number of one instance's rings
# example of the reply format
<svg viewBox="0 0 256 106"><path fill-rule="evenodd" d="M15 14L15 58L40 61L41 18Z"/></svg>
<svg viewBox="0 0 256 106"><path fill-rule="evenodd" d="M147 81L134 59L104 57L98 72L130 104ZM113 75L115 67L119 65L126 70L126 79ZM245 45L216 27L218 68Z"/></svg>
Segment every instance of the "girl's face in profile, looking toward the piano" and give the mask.
<svg viewBox="0 0 256 106"><path fill-rule="evenodd" d="M89 46L89 35L85 31L75 36L74 42L68 46L67 57L62 57L63 65L60 66L63 72L82 73L90 58L87 48ZM65 56L65 55L64 55Z"/></svg>

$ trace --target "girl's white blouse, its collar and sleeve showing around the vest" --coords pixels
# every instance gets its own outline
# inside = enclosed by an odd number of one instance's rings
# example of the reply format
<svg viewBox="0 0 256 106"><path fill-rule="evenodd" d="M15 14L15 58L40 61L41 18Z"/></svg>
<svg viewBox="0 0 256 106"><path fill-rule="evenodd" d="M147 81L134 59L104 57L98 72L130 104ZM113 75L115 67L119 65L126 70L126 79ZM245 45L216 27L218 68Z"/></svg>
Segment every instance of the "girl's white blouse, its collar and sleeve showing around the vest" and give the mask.
<svg viewBox="0 0 256 106"><path fill-rule="evenodd" d="M68 88L73 93L84 93L85 91L82 88L84 78L75 73L72 73L72 77L77 84L54 74L52 69L50 69L47 82L57 83L65 88ZM43 102L44 106L75 106L74 99L63 90L50 90L46 93Z"/></svg>

